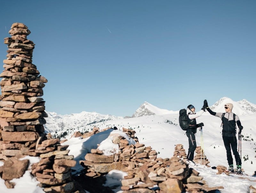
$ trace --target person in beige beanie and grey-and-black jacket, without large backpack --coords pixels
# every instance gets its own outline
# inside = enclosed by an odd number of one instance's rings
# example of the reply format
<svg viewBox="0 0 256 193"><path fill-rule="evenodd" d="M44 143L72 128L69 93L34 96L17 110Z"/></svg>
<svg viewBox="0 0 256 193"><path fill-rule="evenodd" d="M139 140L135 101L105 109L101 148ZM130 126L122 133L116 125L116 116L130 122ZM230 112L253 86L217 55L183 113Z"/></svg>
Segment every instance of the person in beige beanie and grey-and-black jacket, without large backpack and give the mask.
<svg viewBox="0 0 256 193"><path fill-rule="evenodd" d="M239 153L237 152L237 139L236 139L236 124L239 128L239 134L241 134L243 126L241 125L241 122L239 120L239 117L232 112L233 104L227 103L224 105L225 113L216 113L213 112L209 107L207 100L204 100L204 105L206 106L207 111L211 115L215 115L217 117L220 117L222 120L222 139L227 151L227 160L228 160L228 171L234 172L234 165L233 165L233 158L231 154L231 149L233 151L233 154L236 159L236 173L241 173L241 165L242 161L239 156Z"/></svg>

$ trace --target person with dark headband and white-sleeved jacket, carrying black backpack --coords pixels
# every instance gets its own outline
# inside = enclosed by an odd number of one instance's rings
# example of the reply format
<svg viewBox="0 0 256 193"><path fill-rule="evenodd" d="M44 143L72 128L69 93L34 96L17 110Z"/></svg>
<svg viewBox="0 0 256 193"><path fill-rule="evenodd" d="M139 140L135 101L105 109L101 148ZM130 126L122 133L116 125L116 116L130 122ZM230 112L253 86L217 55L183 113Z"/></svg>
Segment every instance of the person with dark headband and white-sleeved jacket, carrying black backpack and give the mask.
<svg viewBox="0 0 256 193"><path fill-rule="evenodd" d="M188 156L187 163L189 165L195 166L194 152L196 150L196 128L204 126L204 123L196 124L196 118L201 116L205 111L206 106L203 106L201 110L195 113L195 107L193 105L188 105L187 108L187 121L188 121L188 130L186 131L186 135L188 137Z"/></svg>

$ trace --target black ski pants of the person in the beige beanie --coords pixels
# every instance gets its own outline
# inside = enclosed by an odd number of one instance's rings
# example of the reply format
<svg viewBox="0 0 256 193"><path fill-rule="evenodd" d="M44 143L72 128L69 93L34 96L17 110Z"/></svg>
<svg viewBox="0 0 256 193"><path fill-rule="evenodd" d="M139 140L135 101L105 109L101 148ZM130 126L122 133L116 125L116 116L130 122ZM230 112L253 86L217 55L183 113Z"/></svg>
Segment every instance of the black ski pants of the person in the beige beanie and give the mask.
<svg viewBox="0 0 256 193"><path fill-rule="evenodd" d="M241 158L239 156L239 153L237 152L237 140L236 136L234 137L222 137L226 151L227 151L227 160L228 160L228 165L233 165L233 158L231 154L231 148L232 152L235 156L236 159L236 165L242 165Z"/></svg>

